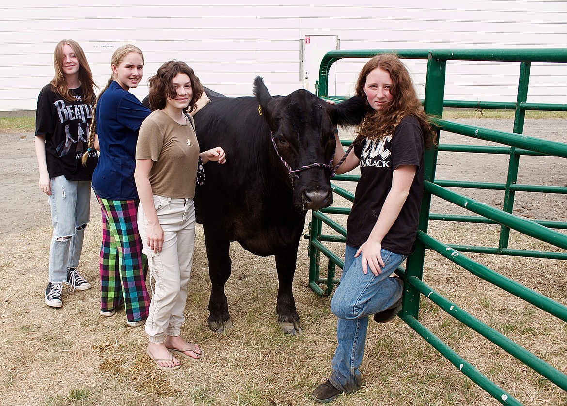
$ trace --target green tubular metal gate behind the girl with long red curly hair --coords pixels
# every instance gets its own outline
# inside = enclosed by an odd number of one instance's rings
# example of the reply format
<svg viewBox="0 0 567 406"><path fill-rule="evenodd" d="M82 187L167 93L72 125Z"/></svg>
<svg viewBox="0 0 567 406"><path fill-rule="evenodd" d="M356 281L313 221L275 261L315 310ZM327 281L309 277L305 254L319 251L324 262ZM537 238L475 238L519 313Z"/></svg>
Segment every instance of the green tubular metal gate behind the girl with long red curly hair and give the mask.
<svg viewBox="0 0 567 406"><path fill-rule="evenodd" d="M528 83L530 79L530 67L532 62L567 63L567 49L455 49L455 50L356 50L356 51L331 51L328 52L321 62L318 93L322 98L331 98L340 101L342 98L329 97L328 95L328 73L331 65L341 58L369 58L378 53L396 53L403 59L428 60L426 75L426 90L424 99L425 111L435 117L442 117L444 107L463 108L496 108L511 109L515 111L513 133L502 132L493 129L479 128L476 126L458 124L442 119L434 119L435 128L438 132L442 129L446 132L462 134L500 143L502 146L462 146L440 144L436 149L426 150L425 153L425 191L421 206L420 223L417 232L416 249L408 257L406 269L398 269L396 272L405 279L405 290L403 307L400 318L414 329L420 336L428 341L447 360L455 365L463 374L473 380L486 392L492 395L502 404L520 405L521 403L480 373L471 363L467 362L452 350L445 342L436 337L429 329L418 321L418 310L421 295L428 298L435 305L441 307L450 316L466 324L474 331L486 337L494 344L523 362L525 365L539 373L544 378L555 383L562 390L567 391L567 375L552 367L541 358L508 339L495 329L481 322L479 319L468 314L462 308L452 303L441 294L422 281L425 260L425 250L432 249L446 257L468 272L483 278L485 281L514 294L524 301L534 305L556 318L567 322L567 307L544 295L519 284L503 276L485 265L469 259L464 252L489 253L497 255L513 255L524 257L539 257L549 259L567 259L567 252L533 251L525 249L511 249L508 247L510 229L517 230L525 235L552 244L562 250L567 249L567 235L552 229L567 229L567 223L558 221L530 221L519 218L512 213L515 192L545 192L567 194L567 187L544 186L532 184L518 184L518 166L520 157L523 155L540 155L567 158L567 144L548 141L545 139L524 136L523 126L525 113L528 110L538 111L567 111L567 104L542 104L527 103ZM477 102L462 100L443 100L445 94L446 64L448 60L467 61L511 61L520 62L518 92L516 102ZM342 145L349 145L350 141L342 141ZM488 154L504 154L509 157L508 174L506 183L471 182L435 180L435 163L438 151L476 152ZM357 181L356 175L340 175L335 180ZM482 202L472 200L462 194L446 189L451 188L477 188L494 189L505 192L503 210L493 208ZM354 195L349 191L332 184L333 191L350 201ZM431 196L438 196L443 200L458 205L471 215L449 215L430 213ZM329 214L348 214L348 208L329 207L312 212L309 234L310 249L310 273L309 286L318 295L329 295L338 283L335 280L335 267L342 268L344 262L331 249L325 246L325 242L344 242L346 230L333 221ZM428 224L431 220L459 221L469 223L489 223L500 225L500 240L497 247L467 246L457 244L445 244L432 238L427 234ZM322 225L328 225L339 235L323 235ZM327 277L321 277L321 257L328 259ZM323 285L324 289L319 285Z"/></svg>

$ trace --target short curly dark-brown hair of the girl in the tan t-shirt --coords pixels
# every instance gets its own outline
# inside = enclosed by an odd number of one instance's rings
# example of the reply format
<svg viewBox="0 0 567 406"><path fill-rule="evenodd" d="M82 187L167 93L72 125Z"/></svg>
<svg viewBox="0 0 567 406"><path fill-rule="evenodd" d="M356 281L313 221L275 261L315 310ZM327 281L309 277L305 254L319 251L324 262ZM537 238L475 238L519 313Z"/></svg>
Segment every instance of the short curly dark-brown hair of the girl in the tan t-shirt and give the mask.
<svg viewBox="0 0 567 406"><path fill-rule="evenodd" d="M168 61L159 67L158 71L147 83L150 87L150 94L148 96L150 102L150 109L161 110L166 107L167 97L175 99L177 97L177 90L171 83L177 74L184 73L191 79L191 87L193 88L193 97L189 105L183 109L186 113L191 113L195 108L197 100L201 98L203 87L199 78L194 70L189 67L185 62L172 60Z"/></svg>

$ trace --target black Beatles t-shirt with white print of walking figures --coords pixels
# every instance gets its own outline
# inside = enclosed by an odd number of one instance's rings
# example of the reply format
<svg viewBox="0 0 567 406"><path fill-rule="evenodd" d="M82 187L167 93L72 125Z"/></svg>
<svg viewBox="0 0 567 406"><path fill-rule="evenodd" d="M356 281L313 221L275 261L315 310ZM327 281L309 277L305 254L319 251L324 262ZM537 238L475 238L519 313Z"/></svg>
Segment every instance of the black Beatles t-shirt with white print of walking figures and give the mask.
<svg viewBox="0 0 567 406"><path fill-rule="evenodd" d="M88 127L92 104L83 102L82 89L72 89L75 100L69 102L53 91L51 84L41 89L37 98L36 136L45 135L45 160L49 177L64 175L67 180L91 180L98 162L96 151L89 153Z"/></svg>

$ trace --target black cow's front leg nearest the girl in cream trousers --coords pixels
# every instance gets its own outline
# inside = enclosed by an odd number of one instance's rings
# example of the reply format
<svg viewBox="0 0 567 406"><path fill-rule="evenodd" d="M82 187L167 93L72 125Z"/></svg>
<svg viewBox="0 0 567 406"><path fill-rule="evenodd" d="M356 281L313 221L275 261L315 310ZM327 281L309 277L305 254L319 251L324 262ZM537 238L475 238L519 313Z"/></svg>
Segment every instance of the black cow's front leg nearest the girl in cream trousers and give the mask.
<svg viewBox="0 0 567 406"><path fill-rule="evenodd" d="M209 328L217 333L232 327L229 303L225 294L225 284L231 273L229 256L230 241L218 237L218 233L205 231L205 245L209 259L211 296L209 299Z"/></svg>

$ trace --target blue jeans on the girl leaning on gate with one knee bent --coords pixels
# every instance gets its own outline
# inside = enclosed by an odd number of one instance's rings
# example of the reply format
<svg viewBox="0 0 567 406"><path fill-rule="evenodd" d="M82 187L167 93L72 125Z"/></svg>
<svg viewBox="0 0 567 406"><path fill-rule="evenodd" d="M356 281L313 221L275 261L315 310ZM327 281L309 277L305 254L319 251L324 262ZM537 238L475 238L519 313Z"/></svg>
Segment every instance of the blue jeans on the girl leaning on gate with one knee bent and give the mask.
<svg viewBox="0 0 567 406"><path fill-rule="evenodd" d="M337 350L333 358L333 373L329 381L338 390L353 393L361 387L359 367L364 357L368 318L393 306L403 294L393 271L405 260L400 255L382 249L384 268L374 276L370 268L362 272L362 254L354 257L358 247L346 246L341 283L331 301L331 311L337 320Z"/></svg>

